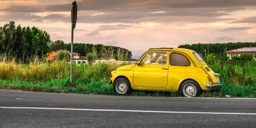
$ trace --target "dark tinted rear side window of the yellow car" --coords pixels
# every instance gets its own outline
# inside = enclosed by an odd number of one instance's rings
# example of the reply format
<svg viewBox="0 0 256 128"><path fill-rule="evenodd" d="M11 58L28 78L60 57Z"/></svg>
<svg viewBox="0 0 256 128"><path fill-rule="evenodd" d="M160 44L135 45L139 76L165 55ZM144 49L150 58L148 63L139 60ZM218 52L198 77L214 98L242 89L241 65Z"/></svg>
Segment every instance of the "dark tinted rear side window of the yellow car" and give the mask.
<svg viewBox="0 0 256 128"><path fill-rule="evenodd" d="M170 64L173 66L189 66L190 62L186 56L180 53L171 53Z"/></svg>

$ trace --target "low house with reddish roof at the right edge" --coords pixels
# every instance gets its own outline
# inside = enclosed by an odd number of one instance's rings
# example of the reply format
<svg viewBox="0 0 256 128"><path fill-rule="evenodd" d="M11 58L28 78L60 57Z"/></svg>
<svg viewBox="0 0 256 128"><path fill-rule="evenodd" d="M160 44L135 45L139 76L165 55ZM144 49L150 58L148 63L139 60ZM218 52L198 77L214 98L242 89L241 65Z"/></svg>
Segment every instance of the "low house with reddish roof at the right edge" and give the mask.
<svg viewBox="0 0 256 128"><path fill-rule="evenodd" d="M233 56L240 56L243 53L253 54L254 58L256 57L256 47L241 47L239 49L233 49L225 51L227 56L231 59Z"/></svg>

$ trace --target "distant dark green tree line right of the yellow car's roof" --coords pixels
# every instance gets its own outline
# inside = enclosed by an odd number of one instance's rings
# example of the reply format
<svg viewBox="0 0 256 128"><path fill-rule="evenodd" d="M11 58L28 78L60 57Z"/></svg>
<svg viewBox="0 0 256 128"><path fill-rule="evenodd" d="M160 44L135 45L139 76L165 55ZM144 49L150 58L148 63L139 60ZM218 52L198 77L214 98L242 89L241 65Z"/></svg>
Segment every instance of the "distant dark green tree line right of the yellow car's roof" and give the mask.
<svg viewBox="0 0 256 128"><path fill-rule="evenodd" d="M186 44L186 45L179 45L179 48L191 49L200 54L206 56L206 54L223 54L225 51L238 49L241 47L256 47L256 42L237 42L237 43L197 43L197 44Z"/></svg>

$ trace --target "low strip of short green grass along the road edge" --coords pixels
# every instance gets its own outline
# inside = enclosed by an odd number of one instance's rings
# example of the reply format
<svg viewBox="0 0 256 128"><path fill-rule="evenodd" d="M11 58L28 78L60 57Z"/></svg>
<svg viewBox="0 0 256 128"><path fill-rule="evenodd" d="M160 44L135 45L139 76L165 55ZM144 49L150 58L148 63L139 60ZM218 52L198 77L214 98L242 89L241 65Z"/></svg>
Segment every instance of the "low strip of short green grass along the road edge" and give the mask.
<svg viewBox="0 0 256 128"><path fill-rule="evenodd" d="M71 85L68 79L54 80L47 82L24 82L7 81L0 79L0 89L24 90L32 92L55 92L55 93L77 93L77 94L100 94L100 95L120 95L113 91L109 83L93 82L87 85ZM256 86L248 85L245 87L239 85L223 85L218 90L203 91L198 97L256 97ZM151 91L133 91L125 96L155 96L155 97L181 97L179 92L151 92Z"/></svg>

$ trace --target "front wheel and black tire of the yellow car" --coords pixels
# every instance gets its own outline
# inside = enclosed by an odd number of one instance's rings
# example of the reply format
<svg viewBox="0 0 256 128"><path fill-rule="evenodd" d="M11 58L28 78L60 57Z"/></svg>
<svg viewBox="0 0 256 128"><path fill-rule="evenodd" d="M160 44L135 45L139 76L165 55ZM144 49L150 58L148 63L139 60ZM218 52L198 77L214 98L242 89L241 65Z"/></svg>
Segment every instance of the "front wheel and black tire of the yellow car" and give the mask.
<svg viewBox="0 0 256 128"><path fill-rule="evenodd" d="M129 94L132 92L131 84L127 78L118 78L117 80L115 80L113 88L115 92L119 94Z"/></svg>

